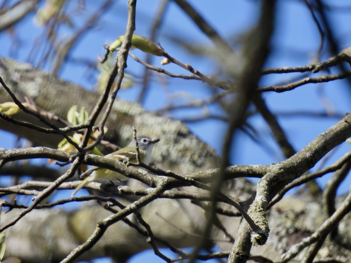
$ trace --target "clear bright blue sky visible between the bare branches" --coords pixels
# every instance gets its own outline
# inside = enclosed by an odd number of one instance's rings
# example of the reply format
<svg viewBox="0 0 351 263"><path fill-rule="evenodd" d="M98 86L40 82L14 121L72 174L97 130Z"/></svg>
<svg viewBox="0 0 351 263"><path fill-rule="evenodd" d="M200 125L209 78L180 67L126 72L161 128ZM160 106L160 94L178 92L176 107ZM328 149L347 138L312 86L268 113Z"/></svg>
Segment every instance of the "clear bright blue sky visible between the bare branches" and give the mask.
<svg viewBox="0 0 351 263"><path fill-rule="evenodd" d="M11 2L11 1L10 1ZM73 22L77 25L82 24L89 14L94 12L102 1L85 1L87 11L82 15L74 15ZM259 1L253 0L236 0L236 1L188 1L190 2L205 19L218 31L218 33L226 40L231 40L236 36L244 34L257 21L259 11ZM345 6L344 0L324 1L333 6ZM137 2L137 20L136 34L149 36L153 18L158 11L161 1L138 0ZM77 5L76 1L70 2L71 7ZM339 8L337 11L330 11L330 22L333 25L333 32L340 48L351 45L351 16L350 8ZM96 61L97 54L103 54L102 46L105 43L112 42L118 35L125 32L127 18L126 1L115 1L115 4L105 13L102 20L99 21L97 28L93 29L87 35L84 35L76 45L74 45L71 54L72 59L90 59ZM19 61L28 61L28 53L34 39L39 38L42 34L42 28L33 24L32 17L26 18L15 28L19 36L20 46L15 46L11 36L7 33L0 35L0 55L4 57L13 57ZM60 28L59 34L62 38L69 36L72 30L68 27ZM181 36L181 40L200 46L212 46L210 40L201 33L196 25L188 19L188 17L180 11L174 3L168 5L166 18L160 29L157 42L160 42L165 50L179 61L190 63L200 72L212 75L216 70L216 61L209 58L201 58L187 52L186 49L180 47L170 36ZM302 1L284 0L278 1L276 29L272 38L272 50L265 67L292 67L303 66L312 63L316 57L316 51L319 46L319 34L316 25L313 23L308 9ZM138 50L133 50L133 54L141 59L145 58L145 54ZM328 59L330 54L325 51L322 61ZM153 58L153 64L159 65L159 57ZM38 63L39 59L31 62ZM164 68L173 73L187 74L184 69L176 65L166 65ZM44 67L50 70L50 65ZM332 69L332 73L337 69ZM131 58L128 59L127 73L140 76L143 74L143 67ZM323 73L317 73L320 76ZM92 90L94 88L97 72L88 70L86 66L68 62L59 72L59 76L65 80L78 83L79 85ZM282 81L289 81L296 77L297 74L270 74L264 76L260 81L260 87L266 85L275 85ZM155 111L162 109L169 101L169 94L177 97L173 100L174 104L184 104L191 99L201 99L211 96L211 90L199 81L184 81L181 79L165 78L167 86L163 86L159 80L153 80L150 83L150 92L146 97L144 107L147 110ZM118 97L128 101L136 101L140 92L140 85L127 90L121 90ZM186 97L184 97L184 95ZM330 105L337 113L346 113L350 111L349 102L351 98L350 85L345 80L338 80L331 83L309 84L290 92L273 93L269 92L263 95L267 105L273 113L285 113L293 111L317 111L325 112L325 97ZM210 105L208 110L212 114L223 114L216 105ZM185 117L198 117L204 113L204 109L187 109L170 112L169 116L176 119L184 119ZM296 150L300 150L311 142L318 134L335 124L337 118L317 118L317 117L283 117L278 115L278 121L282 125L288 139ZM284 156L279 150L277 144L272 140L270 130L259 115L254 115L249 119L249 123L259 132L259 140L265 147L253 142L247 135L239 132L236 140L233 142L232 148L232 164L270 164L284 160ZM221 153L222 140L226 130L226 123L221 120L206 120L200 122L187 123L190 130L196 134L201 140L213 147L218 154ZM11 134L1 132L0 147L11 148L15 145L15 137ZM343 143L339 146L333 156L326 162L326 165L333 163L346 151L350 149L350 144ZM318 164L317 166L318 167ZM324 186L331 175L326 175L318 182ZM339 189L339 194L349 190L351 183L348 176ZM152 255L147 258L150 262L163 262L153 252L148 251ZM138 255L143 256L144 255ZM135 256L129 262L140 262L140 258ZM144 257L145 258L145 257ZM102 260L96 263L105 262ZM106 262L110 262L107 260Z"/></svg>

